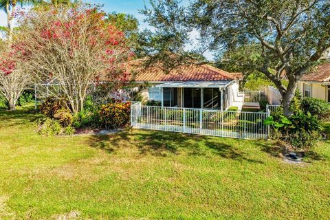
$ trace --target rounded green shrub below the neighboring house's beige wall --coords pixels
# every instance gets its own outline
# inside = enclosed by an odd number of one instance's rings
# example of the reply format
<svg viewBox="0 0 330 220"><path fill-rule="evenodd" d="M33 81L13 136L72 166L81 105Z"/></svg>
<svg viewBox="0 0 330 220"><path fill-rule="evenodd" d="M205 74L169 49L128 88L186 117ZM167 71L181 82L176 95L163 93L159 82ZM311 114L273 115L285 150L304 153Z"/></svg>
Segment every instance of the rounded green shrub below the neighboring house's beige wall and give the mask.
<svg viewBox="0 0 330 220"><path fill-rule="evenodd" d="M310 112L316 115L320 120L330 118L330 103L318 98L304 98L301 103L301 108L305 113Z"/></svg>

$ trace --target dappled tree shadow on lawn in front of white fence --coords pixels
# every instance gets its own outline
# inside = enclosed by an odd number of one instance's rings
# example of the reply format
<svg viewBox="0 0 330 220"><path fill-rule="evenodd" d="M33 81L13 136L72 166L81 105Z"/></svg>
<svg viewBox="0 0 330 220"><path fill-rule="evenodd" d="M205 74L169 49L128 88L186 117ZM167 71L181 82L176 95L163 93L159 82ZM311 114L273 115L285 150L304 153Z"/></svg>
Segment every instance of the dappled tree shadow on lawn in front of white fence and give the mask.
<svg viewBox="0 0 330 220"><path fill-rule="evenodd" d="M219 141L220 140L220 141ZM262 164L263 162L250 159L246 153L234 145L225 144L217 137L187 135L166 131L125 130L113 135L93 135L89 145L101 148L108 153L114 153L119 148L136 147L140 154L167 156L179 154L181 149L190 156L208 156L208 153L219 155L225 159L247 161Z"/></svg>

